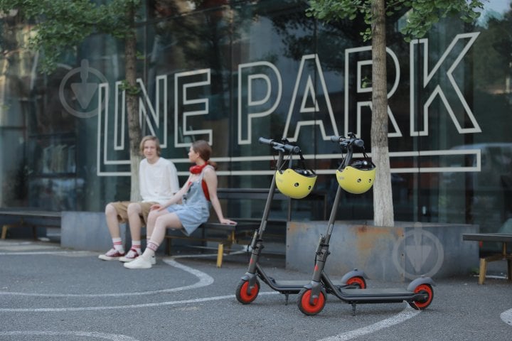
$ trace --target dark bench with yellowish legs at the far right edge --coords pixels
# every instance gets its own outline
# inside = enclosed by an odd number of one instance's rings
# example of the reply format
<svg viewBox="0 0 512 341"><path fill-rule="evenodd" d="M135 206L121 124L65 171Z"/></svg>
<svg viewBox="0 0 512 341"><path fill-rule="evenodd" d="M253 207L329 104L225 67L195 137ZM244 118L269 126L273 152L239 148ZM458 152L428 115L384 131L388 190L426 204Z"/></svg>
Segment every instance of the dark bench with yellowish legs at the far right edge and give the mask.
<svg viewBox="0 0 512 341"><path fill-rule="evenodd" d="M512 254L507 253L506 243L512 242L512 234L502 233L466 233L462 234L462 240L473 240L476 242L499 242L502 244L501 253L491 254L490 256L480 258L479 284L484 284L487 263L489 261L507 261L508 281L512 281Z"/></svg>

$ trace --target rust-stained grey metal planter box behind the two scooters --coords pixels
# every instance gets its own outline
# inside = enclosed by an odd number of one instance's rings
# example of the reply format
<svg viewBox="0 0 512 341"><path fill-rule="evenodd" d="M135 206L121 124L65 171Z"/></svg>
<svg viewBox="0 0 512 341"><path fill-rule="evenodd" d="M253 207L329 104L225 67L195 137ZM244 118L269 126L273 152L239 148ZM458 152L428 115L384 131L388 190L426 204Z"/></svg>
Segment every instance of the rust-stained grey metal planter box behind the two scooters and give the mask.
<svg viewBox="0 0 512 341"><path fill-rule="evenodd" d="M371 222L335 222L326 273L343 275L352 269L370 279L409 281L421 275L447 278L467 275L479 266L477 243L462 234L477 233L478 225L396 222L375 227ZM288 222L287 269L313 272L319 236L327 222Z"/></svg>

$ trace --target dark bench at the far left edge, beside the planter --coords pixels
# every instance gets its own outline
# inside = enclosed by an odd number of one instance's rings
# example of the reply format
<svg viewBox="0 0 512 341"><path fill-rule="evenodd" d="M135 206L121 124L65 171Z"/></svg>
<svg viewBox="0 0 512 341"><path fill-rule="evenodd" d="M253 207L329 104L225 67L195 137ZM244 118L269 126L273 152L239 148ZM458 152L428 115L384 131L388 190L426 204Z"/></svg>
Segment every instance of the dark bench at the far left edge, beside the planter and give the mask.
<svg viewBox="0 0 512 341"><path fill-rule="evenodd" d="M2 223L1 239L6 239L7 232L15 227L31 227L33 239L37 239L37 226L60 227L60 212L29 209L0 209ZM44 222L43 222L44 221Z"/></svg>

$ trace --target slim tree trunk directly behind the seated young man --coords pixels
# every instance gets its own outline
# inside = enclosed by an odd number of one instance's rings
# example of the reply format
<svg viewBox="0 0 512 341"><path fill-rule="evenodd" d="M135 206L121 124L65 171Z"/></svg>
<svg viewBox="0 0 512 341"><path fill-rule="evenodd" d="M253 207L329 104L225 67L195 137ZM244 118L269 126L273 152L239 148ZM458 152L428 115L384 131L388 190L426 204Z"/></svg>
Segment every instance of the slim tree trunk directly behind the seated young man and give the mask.
<svg viewBox="0 0 512 341"><path fill-rule="evenodd" d="M132 7L127 13L129 21L134 27L135 9ZM137 89L137 37L135 30L127 34L124 42L124 65L127 82L126 101L128 118L129 153L131 166L130 201L142 200L139 190L139 163L142 156L139 153L139 144L142 139L142 131L139 124L139 95Z"/></svg>

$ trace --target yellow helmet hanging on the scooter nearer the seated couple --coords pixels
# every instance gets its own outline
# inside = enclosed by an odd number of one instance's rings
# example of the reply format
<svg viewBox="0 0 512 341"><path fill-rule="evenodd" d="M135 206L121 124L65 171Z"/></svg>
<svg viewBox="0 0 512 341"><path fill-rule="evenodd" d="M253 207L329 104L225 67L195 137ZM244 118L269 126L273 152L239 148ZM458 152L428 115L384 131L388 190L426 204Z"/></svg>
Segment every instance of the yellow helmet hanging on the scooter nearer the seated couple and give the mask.
<svg viewBox="0 0 512 341"><path fill-rule="evenodd" d="M316 174L300 168L277 170L275 180L279 191L287 197L302 199L314 188Z"/></svg>

